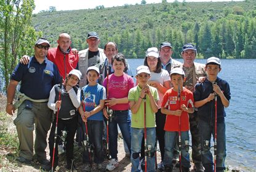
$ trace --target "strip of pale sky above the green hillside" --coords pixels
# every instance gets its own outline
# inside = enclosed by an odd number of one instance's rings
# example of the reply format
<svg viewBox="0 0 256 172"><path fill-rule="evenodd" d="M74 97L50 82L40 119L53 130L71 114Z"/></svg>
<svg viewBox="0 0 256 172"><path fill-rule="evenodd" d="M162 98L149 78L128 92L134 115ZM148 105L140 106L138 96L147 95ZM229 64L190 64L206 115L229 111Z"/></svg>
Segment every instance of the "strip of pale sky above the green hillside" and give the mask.
<svg viewBox="0 0 256 172"><path fill-rule="evenodd" d="M183 0L178 0L182 2ZM185 0L186 2L206 2L206 1L231 1L231 0ZM242 0L234 0L242 1ZM36 9L33 13L38 13L41 10L49 10L50 6L56 7L56 10L79 10L79 9L94 9L96 6L116 7L124 4L140 4L142 0L34 0ZM160 3L162 0L146 0L146 4ZM167 0L174 2L174 0Z"/></svg>

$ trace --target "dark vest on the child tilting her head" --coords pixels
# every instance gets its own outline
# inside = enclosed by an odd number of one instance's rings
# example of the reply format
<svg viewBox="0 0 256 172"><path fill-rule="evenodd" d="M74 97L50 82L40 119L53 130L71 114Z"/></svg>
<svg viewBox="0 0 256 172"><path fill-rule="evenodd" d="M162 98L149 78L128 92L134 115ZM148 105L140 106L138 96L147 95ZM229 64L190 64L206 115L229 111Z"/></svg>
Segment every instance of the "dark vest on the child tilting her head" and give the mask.
<svg viewBox="0 0 256 172"><path fill-rule="evenodd" d="M73 118L74 116L76 116L78 114L78 110L76 107L74 107L71 99L70 99L70 95L68 94L68 92L65 92L65 88L63 88L62 85L62 89L60 89L60 85L57 84L54 86L55 89L55 101L56 102L58 100L58 94L60 93L60 97L62 100L62 106L60 108L60 111L58 113L58 118L59 119L68 119L68 118ZM78 88L76 86L73 87L74 92L76 92L76 94L78 93Z"/></svg>

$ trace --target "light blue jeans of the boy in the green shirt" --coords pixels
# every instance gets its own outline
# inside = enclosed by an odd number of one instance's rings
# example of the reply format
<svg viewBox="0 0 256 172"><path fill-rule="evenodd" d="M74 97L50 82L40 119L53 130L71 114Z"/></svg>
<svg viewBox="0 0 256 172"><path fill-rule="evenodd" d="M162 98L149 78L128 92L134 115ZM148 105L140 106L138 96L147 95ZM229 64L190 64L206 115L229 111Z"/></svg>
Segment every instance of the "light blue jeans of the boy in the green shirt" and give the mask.
<svg viewBox="0 0 256 172"><path fill-rule="evenodd" d="M137 128L131 128L132 132L132 147L131 151L132 154L130 156L130 160L132 162L132 172L139 172L138 165L140 163L140 149L142 146L142 138L144 135L144 128L137 129ZM156 128L146 128L146 145L151 145L151 156L146 157L146 171L155 171L154 169L154 144L156 143ZM145 148L146 149L146 148Z"/></svg>

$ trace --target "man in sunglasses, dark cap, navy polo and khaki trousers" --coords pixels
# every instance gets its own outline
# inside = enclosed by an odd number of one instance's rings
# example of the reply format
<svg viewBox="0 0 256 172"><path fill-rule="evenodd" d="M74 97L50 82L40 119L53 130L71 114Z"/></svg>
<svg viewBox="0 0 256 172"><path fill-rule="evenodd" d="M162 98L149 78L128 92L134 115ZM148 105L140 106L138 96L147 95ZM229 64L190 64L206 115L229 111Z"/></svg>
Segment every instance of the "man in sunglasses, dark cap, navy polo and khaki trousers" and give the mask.
<svg viewBox="0 0 256 172"><path fill-rule="evenodd" d="M42 167L48 165L46 159L47 132L50 129L52 111L47 107L52 86L60 83L60 73L57 66L50 62L46 55L50 43L46 39L38 39L34 45L34 56L28 64L18 64L10 77L7 88L6 112L13 114L15 88L20 84L20 93L25 97L18 107L17 118L14 124L17 127L20 141L20 155L17 160L22 163L31 163L33 159L33 130L36 128L34 141L35 159Z"/></svg>

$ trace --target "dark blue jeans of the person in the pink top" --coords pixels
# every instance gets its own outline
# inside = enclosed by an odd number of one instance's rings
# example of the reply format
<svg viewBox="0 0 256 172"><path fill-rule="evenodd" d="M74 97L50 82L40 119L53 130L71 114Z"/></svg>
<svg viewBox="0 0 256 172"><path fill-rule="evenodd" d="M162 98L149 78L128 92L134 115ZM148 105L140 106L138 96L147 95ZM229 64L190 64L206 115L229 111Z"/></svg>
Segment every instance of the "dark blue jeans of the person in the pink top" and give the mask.
<svg viewBox="0 0 256 172"><path fill-rule="evenodd" d="M130 115L127 111L113 111L113 119L108 122L108 132L110 137L110 155L113 159L118 159L118 125L122 133L122 138L126 141L130 152Z"/></svg>

